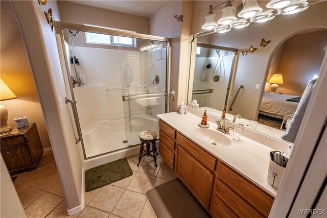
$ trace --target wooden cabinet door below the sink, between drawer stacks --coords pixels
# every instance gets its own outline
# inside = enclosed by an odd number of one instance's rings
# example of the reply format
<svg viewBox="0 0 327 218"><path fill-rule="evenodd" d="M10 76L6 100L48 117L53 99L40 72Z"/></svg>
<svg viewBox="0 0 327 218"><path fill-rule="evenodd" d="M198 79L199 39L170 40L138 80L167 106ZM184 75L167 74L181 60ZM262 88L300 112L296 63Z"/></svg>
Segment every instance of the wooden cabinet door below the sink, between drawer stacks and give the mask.
<svg viewBox="0 0 327 218"><path fill-rule="evenodd" d="M176 173L202 206L208 209L214 175L180 147L177 147Z"/></svg>

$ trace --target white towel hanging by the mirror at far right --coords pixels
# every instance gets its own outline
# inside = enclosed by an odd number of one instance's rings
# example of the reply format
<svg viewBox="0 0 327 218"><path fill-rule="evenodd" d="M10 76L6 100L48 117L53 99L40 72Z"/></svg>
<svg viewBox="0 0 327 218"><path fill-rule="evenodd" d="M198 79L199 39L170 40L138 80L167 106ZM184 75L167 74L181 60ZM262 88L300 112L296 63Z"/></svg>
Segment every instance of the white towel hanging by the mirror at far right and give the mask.
<svg viewBox="0 0 327 218"><path fill-rule="evenodd" d="M317 78L310 80L306 90L303 92L303 95L301 97L301 100L298 104L298 107L294 113L294 117L291 120L290 125L288 126L288 128L285 131L285 134L282 135L282 139L294 143L298 129L300 128L302 119L303 119L303 115L306 112L309 100L310 100L310 96L312 94L313 88L315 87Z"/></svg>

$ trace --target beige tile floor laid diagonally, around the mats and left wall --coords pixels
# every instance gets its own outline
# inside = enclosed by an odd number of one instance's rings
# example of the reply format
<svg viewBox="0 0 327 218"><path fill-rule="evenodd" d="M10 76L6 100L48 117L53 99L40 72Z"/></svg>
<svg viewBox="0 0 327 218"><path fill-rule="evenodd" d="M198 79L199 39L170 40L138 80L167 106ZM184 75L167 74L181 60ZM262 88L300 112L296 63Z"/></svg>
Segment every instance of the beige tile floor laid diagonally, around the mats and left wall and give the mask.
<svg viewBox="0 0 327 218"><path fill-rule="evenodd" d="M102 188L85 192L82 212L67 216L53 153L44 152L37 168L16 179L16 187L27 217L156 217L146 196L147 190L175 178L174 172L157 156L158 167L152 157L138 155L127 158L133 175Z"/></svg>

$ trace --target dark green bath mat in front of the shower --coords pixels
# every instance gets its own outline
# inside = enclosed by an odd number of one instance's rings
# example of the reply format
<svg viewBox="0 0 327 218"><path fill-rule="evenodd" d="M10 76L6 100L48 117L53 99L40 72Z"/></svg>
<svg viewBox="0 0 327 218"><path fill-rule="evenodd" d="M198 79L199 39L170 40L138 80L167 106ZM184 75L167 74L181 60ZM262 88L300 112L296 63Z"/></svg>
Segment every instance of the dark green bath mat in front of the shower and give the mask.
<svg viewBox="0 0 327 218"><path fill-rule="evenodd" d="M133 175L126 158L96 166L85 171L85 191L101 188Z"/></svg>

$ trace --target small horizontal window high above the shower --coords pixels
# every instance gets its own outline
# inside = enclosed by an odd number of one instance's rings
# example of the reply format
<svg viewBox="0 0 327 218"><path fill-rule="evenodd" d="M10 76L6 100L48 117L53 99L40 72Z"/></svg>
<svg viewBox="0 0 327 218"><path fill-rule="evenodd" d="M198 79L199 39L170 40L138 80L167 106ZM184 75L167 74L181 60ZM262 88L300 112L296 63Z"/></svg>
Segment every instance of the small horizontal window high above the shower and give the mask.
<svg viewBox="0 0 327 218"><path fill-rule="evenodd" d="M136 47L134 38L85 32L86 43Z"/></svg>

